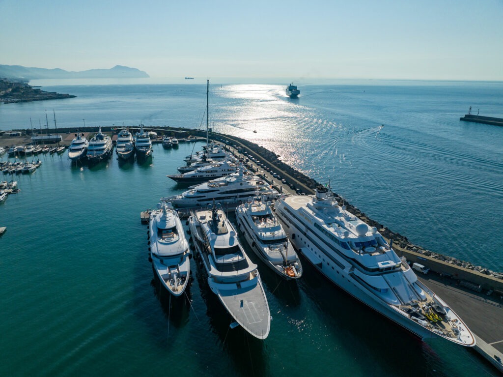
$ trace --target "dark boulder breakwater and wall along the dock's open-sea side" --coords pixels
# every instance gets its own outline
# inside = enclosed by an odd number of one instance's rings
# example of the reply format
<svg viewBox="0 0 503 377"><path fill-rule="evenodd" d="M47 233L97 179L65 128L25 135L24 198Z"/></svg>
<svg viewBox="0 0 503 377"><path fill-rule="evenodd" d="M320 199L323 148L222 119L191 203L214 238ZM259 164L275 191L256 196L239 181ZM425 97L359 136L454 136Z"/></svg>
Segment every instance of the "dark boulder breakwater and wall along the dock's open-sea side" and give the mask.
<svg viewBox="0 0 503 377"><path fill-rule="evenodd" d="M217 140L230 140L238 147L238 150L242 148L242 152L251 153L253 156L263 161L264 166L267 166L272 172L285 176L285 178L289 182L293 182L294 186L301 192L307 194L314 193L316 186L320 185L316 180L307 177L305 174L279 160L278 155L263 146L235 136L220 134L219 137L217 135L215 135ZM421 246L414 245L409 242L407 237L392 232L383 224L368 217L364 212L360 211L359 208L348 203L344 198L339 196L339 200L340 204L346 205L346 208L351 213L360 217L369 224L370 227L376 227L383 237L393 243L393 249L397 254L407 258L411 264L414 262L421 263L441 276L455 279L460 285L466 288L476 291L494 291L496 294L503 295L503 273L495 272L482 266L476 266L470 262L459 260L454 257L434 253Z"/></svg>

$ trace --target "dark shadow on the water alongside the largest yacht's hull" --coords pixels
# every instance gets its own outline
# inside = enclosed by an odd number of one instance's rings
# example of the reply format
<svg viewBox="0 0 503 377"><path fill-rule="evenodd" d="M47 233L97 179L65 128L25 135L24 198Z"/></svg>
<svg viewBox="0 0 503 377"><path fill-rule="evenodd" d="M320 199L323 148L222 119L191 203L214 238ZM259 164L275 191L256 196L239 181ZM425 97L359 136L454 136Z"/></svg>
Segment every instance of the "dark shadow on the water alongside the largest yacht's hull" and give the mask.
<svg viewBox="0 0 503 377"><path fill-rule="evenodd" d="M421 340L301 259L304 271L299 289L312 301L306 305L316 308L322 323L329 324L327 335L343 339L345 349L356 355L352 362L368 375L473 375L480 368L480 363L473 362L474 350L437 337ZM389 360L390 354L394 362L385 369L382 360ZM368 362L362 362L363 358Z"/></svg>

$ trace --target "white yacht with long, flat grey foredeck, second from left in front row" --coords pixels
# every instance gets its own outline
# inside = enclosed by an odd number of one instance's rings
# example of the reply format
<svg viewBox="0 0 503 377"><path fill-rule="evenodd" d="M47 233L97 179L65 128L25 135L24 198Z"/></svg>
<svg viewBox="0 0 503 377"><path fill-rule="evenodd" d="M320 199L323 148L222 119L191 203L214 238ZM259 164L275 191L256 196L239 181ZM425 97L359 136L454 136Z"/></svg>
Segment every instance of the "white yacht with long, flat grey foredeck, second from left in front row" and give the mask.
<svg viewBox="0 0 503 377"><path fill-rule="evenodd" d="M192 239L208 275L208 285L232 318L249 334L265 339L271 315L257 265L239 244L220 205L189 218Z"/></svg>

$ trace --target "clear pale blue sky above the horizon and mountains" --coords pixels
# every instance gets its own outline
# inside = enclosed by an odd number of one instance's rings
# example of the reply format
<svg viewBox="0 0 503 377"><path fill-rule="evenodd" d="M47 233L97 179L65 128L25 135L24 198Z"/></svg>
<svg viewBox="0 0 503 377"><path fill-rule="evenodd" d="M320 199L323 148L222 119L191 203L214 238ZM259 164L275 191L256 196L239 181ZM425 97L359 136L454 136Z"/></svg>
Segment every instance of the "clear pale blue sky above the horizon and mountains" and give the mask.
<svg viewBox="0 0 503 377"><path fill-rule="evenodd" d="M503 80L503 2L0 0L0 64L151 77Z"/></svg>

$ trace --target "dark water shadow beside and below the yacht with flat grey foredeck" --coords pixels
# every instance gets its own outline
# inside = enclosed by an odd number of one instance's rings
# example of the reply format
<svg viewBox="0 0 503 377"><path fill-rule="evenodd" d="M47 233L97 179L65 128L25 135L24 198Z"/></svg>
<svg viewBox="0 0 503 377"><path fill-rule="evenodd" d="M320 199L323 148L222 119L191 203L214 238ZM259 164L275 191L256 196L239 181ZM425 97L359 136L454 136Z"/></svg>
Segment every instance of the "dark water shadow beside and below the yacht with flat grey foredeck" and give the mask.
<svg viewBox="0 0 503 377"><path fill-rule="evenodd" d="M206 304L211 331L218 336L223 350L230 356L234 370L230 374L261 376L266 374L267 354L264 341L249 335L242 327L230 328L234 319L224 308L207 282L207 274L199 257L196 259L196 279ZM230 371L229 371L230 372Z"/></svg>

